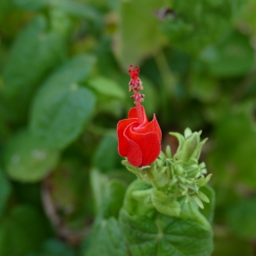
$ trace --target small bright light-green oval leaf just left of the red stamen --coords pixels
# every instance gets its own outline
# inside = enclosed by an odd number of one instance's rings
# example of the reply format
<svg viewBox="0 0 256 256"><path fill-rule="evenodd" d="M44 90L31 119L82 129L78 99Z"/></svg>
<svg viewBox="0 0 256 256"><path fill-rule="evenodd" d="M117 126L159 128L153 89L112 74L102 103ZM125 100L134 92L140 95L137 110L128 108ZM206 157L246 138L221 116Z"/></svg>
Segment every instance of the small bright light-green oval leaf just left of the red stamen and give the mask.
<svg viewBox="0 0 256 256"><path fill-rule="evenodd" d="M125 93L123 89L114 81L104 77L96 77L88 81L87 86L91 90L103 95L123 100Z"/></svg>

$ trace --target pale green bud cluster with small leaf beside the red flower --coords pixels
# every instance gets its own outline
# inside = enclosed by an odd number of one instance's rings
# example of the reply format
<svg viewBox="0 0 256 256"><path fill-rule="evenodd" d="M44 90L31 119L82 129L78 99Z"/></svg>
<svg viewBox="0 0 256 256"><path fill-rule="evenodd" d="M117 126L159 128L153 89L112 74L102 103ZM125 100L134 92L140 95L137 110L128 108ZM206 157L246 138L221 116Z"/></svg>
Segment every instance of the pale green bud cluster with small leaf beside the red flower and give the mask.
<svg viewBox="0 0 256 256"><path fill-rule="evenodd" d="M200 141L201 132L192 133L187 128L184 135L170 134L176 136L179 142L175 155L167 146L165 153L161 152L152 165L135 167L127 160L123 160L123 165L139 180L152 186L147 192L138 195L134 193L134 199L165 215L179 216L180 202L187 203L192 199L199 208L204 208L203 202L209 202L208 197L199 189L208 184L211 174L207 176L204 162L198 163L202 146L207 141Z"/></svg>

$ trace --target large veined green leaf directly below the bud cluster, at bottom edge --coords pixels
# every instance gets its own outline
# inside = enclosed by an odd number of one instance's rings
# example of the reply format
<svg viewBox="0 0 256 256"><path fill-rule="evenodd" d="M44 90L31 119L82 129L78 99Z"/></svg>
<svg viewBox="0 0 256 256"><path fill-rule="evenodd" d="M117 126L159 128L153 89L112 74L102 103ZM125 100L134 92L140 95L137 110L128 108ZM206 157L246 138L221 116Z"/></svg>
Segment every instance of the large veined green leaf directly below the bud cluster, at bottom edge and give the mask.
<svg viewBox="0 0 256 256"><path fill-rule="evenodd" d="M179 218L170 217L141 202L138 195L146 189L146 184L135 181L127 190L120 212L121 229L132 255L209 255L212 232L207 222L201 223L203 216L197 204L187 208L185 203ZM192 212L197 212L199 219Z"/></svg>

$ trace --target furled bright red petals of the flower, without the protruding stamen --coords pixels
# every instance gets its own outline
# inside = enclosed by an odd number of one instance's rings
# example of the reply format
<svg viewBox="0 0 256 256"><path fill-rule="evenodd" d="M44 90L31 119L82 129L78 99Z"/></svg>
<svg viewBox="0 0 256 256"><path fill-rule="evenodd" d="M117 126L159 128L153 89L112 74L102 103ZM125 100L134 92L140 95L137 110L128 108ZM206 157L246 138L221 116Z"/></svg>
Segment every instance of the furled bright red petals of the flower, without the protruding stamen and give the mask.
<svg viewBox="0 0 256 256"><path fill-rule="evenodd" d="M144 107L141 108L143 122L139 122L137 109L132 108L128 119L117 124L118 153L127 157L134 166L151 165L161 151L162 133L156 121L155 114L148 122Z"/></svg>

